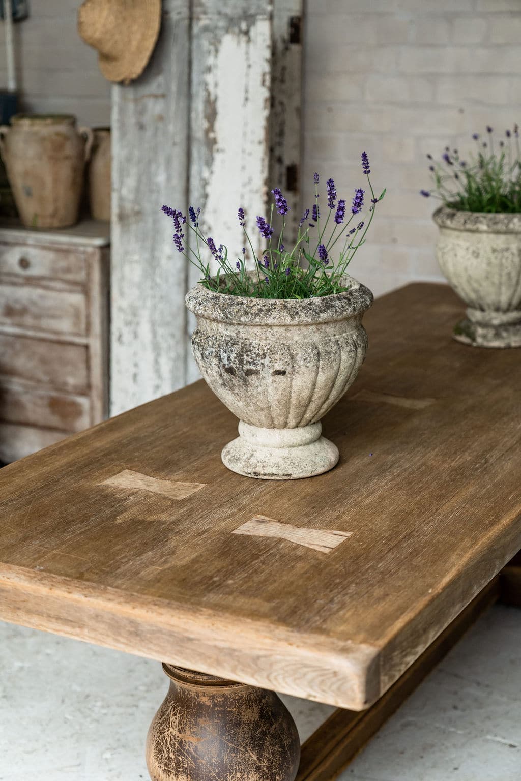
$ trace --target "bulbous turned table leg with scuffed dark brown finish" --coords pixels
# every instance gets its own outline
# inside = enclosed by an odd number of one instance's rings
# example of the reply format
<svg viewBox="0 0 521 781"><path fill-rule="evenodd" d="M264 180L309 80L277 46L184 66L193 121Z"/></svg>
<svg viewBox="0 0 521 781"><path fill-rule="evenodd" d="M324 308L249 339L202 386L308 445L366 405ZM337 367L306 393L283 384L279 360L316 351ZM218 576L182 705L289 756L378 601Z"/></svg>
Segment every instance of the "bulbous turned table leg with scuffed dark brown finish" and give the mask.
<svg viewBox="0 0 521 781"><path fill-rule="evenodd" d="M300 742L274 692L162 665L170 689L148 730L152 781L293 781Z"/></svg>

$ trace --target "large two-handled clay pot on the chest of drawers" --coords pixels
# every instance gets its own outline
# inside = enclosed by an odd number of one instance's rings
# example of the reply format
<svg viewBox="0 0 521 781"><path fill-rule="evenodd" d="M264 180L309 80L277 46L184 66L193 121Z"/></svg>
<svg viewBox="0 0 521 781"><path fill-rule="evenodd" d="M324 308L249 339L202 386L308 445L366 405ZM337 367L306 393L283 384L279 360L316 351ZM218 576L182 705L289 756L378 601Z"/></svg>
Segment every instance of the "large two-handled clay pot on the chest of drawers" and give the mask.
<svg viewBox="0 0 521 781"><path fill-rule="evenodd" d="M77 223L92 130L73 116L24 116L0 127L0 152L23 224L66 228Z"/></svg>

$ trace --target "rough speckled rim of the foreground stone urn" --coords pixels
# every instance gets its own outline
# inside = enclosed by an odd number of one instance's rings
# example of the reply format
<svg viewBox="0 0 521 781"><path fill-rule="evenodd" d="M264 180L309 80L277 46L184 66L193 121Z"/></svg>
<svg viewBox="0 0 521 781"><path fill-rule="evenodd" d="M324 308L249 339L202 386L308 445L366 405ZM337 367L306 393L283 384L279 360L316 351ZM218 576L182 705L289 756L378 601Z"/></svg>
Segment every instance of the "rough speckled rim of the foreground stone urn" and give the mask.
<svg viewBox="0 0 521 781"><path fill-rule="evenodd" d="M209 291L198 283L184 303L196 317L248 326L302 326L332 323L362 316L373 304L373 293L352 276L348 291L316 298L247 298Z"/></svg>

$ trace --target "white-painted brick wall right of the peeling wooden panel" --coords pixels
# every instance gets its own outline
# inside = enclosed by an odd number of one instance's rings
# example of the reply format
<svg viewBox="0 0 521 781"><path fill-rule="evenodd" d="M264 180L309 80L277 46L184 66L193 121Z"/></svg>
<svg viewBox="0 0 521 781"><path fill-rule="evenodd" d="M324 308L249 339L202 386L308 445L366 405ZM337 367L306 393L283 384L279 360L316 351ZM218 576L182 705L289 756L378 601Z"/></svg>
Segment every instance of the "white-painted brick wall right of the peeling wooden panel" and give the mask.
<svg viewBox="0 0 521 781"><path fill-rule="evenodd" d="M521 0L306 0L305 205L316 170L365 187L366 149L387 196L351 273L376 294L441 279L426 152L521 123L520 64Z"/></svg>

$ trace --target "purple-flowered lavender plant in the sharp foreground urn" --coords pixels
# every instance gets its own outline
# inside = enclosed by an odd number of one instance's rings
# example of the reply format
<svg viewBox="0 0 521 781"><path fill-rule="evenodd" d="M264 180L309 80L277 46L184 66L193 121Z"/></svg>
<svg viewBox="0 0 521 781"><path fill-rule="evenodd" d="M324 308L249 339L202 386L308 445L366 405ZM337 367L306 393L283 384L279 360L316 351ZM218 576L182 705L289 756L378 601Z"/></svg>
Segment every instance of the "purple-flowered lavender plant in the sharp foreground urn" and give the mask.
<svg viewBox="0 0 521 781"><path fill-rule="evenodd" d="M201 284L209 290L229 295L249 298L313 298L316 296L341 293L348 290L342 277L353 259L355 252L366 241L366 234L373 221L376 204L384 198L385 190L376 198L369 174L369 159L362 152L362 172L366 176L371 193L371 205L366 216L361 217L364 206L365 190L358 187L352 198L350 216L346 221L347 199L337 198L333 179L326 183L327 205L325 219L319 209L319 174L315 174L315 202L306 209L298 226L298 235L291 244L284 244L286 215L289 211L287 199L279 187L272 190L273 204L269 220L257 216L257 228L265 243L260 257L253 248L246 230L246 215L242 207L237 211L239 224L244 231L244 244L241 255L230 259L224 244L217 247L211 236L205 236L199 223L201 209L188 209L188 217L178 209L163 206L162 211L173 219L175 233L173 243L189 262L202 274ZM276 211L281 219L278 238L275 237L274 216ZM311 215L311 216L310 216ZM353 226L348 226L353 223ZM330 226L329 232L327 227ZM348 230L346 230L348 229ZM186 240L187 230L193 234L193 241ZM340 242L340 244L338 244ZM337 261L332 251L337 245ZM255 271L246 268L248 250L255 259ZM212 256L218 265L216 275L210 273L210 264L205 258Z"/></svg>

